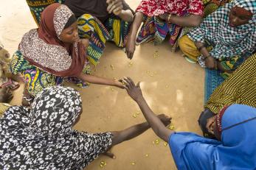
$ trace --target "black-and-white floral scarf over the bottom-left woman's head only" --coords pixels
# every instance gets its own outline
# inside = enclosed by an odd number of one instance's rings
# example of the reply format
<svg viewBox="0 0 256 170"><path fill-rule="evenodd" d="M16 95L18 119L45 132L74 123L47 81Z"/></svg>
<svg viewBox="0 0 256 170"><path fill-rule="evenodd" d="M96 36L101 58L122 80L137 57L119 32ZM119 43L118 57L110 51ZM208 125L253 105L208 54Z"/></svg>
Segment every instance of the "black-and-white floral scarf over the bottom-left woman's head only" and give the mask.
<svg viewBox="0 0 256 170"><path fill-rule="evenodd" d="M30 115L31 127L40 135L66 135L82 108L80 94L72 88L48 88L35 98Z"/></svg>

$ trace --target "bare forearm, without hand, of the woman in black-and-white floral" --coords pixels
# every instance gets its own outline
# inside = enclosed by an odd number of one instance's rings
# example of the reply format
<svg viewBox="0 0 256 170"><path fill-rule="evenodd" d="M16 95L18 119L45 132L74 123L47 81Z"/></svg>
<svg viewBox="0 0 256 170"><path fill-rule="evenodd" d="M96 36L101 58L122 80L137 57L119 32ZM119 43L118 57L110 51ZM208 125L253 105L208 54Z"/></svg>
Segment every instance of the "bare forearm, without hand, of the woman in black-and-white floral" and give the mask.
<svg viewBox="0 0 256 170"><path fill-rule="evenodd" d="M120 144L123 141L128 141L132 138L135 138L136 136L141 135L143 132L145 132L149 128L150 126L148 122L145 122L142 124L136 124L132 127L129 127L126 130L112 132L114 135L112 139L112 146L116 144Z"/></svg>

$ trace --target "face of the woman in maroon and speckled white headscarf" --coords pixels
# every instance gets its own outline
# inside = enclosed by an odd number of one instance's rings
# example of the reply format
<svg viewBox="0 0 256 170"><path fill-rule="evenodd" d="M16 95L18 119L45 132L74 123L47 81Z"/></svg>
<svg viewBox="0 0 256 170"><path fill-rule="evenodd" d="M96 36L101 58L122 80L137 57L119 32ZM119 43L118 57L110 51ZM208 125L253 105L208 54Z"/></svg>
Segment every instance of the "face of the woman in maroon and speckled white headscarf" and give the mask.
<svg viewBox="0 0 256 170"><path fill-rule="evenodd" d="M64 43L75 43L80 40L78 36L77 22L67 27L66 29L63 29L60 34L60 40Z"/></svg>

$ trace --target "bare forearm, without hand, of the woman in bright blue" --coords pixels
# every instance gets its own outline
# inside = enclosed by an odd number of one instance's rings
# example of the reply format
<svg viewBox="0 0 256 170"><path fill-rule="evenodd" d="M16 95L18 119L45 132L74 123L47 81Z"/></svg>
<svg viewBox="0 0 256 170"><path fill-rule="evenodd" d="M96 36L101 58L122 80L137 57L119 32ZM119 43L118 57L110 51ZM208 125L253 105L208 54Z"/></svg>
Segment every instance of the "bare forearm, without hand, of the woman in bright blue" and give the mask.
<svg viewBox="0 0 256 170"><path fill-rule="evenodd" d="M168 141L168 138L173 131L168 130L165 127L165 124L163 124L155 113L153 113L143 97L137 101L137 104L156 135L158 135L159 138L162 138L164 141Z"/></svg>

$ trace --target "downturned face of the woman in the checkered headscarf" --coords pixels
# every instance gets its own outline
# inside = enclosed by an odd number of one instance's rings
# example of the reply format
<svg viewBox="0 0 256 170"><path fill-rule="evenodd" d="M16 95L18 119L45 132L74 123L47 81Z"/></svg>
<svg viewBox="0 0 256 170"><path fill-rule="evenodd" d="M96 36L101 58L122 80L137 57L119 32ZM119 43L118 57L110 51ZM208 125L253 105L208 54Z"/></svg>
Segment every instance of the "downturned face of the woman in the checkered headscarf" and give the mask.
<svg viewBox="0 0 256 170"><path fill-rule="evenodd" d="M233 7L229 13L229 26L236 27L248 24L252 18L252 13L242 7Z"/></svg>

